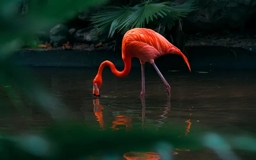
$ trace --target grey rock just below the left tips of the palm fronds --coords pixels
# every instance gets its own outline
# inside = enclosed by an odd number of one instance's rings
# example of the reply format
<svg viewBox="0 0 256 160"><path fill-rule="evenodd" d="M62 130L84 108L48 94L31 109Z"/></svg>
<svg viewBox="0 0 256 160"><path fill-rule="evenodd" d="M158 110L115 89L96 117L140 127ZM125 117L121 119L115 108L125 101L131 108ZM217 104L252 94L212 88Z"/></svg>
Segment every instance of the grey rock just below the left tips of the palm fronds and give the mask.
<svg viewBox="0 0 256 160"><path fill-rule="evenodd" d="M89 41L89 42L95 42L99 39L99 34L98 34L99 28L84 28L76 31L74 34L74 37L78 41Z"/></svg>

